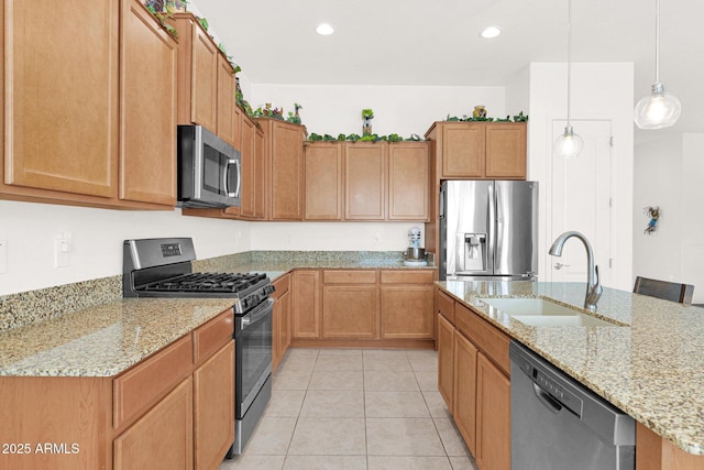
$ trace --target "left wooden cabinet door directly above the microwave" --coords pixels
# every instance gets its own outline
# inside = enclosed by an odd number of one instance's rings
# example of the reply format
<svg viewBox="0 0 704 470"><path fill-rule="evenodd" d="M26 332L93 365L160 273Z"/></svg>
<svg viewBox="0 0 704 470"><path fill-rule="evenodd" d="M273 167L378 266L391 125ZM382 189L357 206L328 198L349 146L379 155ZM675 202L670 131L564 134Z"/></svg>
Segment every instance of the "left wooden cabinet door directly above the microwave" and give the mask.
<svg viewBox="0 0 704 470"><path fill-rule="evenodd" d="M190 119L217 132L218 47L198 22L193 23Z"/></svg>

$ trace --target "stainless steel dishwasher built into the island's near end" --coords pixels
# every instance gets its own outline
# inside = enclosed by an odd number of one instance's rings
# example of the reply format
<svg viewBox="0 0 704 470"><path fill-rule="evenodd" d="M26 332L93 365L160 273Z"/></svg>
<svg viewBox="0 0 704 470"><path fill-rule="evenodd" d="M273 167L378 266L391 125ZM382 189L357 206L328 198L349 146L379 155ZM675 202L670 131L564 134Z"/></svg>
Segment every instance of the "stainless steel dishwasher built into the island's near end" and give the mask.
<svg viewBox="0 0 704 470"><path fill-rule="evenodd" d="M513 470L636 468L636 423L560 369L512 341Z"/></svg>

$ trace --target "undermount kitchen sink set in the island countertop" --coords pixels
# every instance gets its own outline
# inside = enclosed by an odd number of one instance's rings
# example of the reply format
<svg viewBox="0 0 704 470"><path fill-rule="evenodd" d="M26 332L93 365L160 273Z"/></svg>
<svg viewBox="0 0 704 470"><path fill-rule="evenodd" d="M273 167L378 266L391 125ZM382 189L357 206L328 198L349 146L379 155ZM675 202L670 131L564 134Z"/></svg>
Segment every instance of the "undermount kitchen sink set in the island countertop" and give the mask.
<svg viewBox="0 0 704 470"><path fill-rule="evenodd" d="M480 298L486 305L502 310L512 318L534 327L575 326L615 327L616 324L543 298Z"/></svg>

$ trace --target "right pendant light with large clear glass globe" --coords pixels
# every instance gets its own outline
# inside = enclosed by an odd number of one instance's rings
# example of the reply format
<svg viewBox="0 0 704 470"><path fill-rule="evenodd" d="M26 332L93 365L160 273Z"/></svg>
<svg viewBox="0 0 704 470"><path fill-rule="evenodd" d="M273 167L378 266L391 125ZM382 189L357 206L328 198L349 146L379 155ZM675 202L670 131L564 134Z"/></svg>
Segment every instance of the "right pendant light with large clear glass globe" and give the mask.
<svg viewBox="0 0 704 470"><path fill-rule="evenodd" d="M664 91L660 83L660 0L656 0L656 83L652 92L640 99L634 110L634 120L640 129L669 128L680 118L682 105Z"/></svg>

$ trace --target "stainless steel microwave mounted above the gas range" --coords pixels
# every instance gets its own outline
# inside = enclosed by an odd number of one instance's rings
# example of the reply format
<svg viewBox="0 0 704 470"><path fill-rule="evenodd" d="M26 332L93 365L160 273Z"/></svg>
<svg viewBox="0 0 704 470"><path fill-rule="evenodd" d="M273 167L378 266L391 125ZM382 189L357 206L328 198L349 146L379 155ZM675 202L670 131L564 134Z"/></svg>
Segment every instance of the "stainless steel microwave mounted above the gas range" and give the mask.
<svg viewBox="0 0 704 470"><path fill-rule="evenodd" d="M178 127L178 207L240 205L240 151L202 125Z"/></svg>

